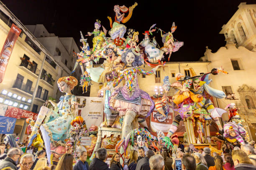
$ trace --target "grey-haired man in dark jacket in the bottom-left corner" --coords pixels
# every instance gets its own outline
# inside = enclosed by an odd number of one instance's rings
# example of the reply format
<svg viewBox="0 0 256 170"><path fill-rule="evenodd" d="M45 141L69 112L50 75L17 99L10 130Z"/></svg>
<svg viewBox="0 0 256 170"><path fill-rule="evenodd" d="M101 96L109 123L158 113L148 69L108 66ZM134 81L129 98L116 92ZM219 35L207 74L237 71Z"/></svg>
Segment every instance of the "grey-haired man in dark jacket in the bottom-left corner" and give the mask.
<svg viewBox="0 0 256 170"><path fill-rule="evenodd" d="M20 150L18 148L12 148L8 151L7 157L1 161L0 170L6 167L10 167L14 170L17 170L16 162L20 158Z"/></svg>

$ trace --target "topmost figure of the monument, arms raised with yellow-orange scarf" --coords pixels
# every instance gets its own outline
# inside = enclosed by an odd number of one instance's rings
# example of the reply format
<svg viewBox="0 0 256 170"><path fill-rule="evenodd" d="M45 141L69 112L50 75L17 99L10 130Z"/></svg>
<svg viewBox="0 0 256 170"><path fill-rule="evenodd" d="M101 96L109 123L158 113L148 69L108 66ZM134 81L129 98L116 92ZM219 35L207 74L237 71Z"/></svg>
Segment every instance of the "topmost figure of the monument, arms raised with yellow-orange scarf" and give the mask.
<svg viewBox="0 0 256 170"><path fill-rule="evenodd" d="M137 6L137 2L134 3L134 5L132 5L131 7L125 7L125 5L123 6L119 6L119 5L115 5L114 6L114 11L115 11L115 21L112 24L112 19L110 17L108 17L108 19L110 20L110 27L111 30L108 32L111 39L114 40L115 45L117 46L121 46L123 45L123 36L126 32L126 27L123 24L120 23L126 23L128 20L130 20L132 14L133 14L133 9ZM121 13L122 14L121 14ZM128 15L125 17L125 13L128 13Z"/></svg>

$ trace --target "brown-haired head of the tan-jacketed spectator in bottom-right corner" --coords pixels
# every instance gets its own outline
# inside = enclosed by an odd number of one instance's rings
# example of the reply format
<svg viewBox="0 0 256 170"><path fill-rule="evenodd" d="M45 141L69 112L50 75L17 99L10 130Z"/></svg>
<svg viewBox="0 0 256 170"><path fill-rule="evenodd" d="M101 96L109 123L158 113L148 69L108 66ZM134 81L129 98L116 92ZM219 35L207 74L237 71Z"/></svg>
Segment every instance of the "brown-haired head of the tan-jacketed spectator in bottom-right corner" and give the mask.
<svg viewBox="0 0 256 170"><path fill-rule="evenodd" d="M235 166L240 163L252 164L250 158L245 152L243 152L243 150L233 150L232 160Z"/></svg>

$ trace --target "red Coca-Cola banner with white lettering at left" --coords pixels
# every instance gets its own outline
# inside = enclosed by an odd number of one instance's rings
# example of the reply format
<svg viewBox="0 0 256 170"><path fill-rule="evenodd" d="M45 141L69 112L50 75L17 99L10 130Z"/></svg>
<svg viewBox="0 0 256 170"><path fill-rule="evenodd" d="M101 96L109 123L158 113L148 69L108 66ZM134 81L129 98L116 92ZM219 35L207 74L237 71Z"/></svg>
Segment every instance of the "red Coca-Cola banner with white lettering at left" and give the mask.
<svg viewBox="0 0 256 170"><path fill-rule="evenodd" d="M37 114L34 112L30 112L28 110L23 110L23 109L19 109L17 107L13 107L13 106L8 106L6 112L5 112L5 116L6 117L14 117L17 119L20 119L20 117L22 118L32 118L33 120L36 120L37 118Z"/></svg>

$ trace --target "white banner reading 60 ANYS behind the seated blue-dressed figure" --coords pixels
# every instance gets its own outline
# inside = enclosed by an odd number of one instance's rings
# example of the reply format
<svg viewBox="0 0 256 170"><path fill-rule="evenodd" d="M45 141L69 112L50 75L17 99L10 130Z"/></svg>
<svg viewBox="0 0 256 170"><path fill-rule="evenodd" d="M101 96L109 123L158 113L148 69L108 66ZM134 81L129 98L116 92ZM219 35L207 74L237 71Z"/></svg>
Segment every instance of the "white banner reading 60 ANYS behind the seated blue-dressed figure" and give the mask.
<svg viewBox="0 0 256 170"><path fill-rule="evenodd" d="M82 104L78 107L78 112L83 117L87 129L91 125L100 126L103 121L103 97L77 96L77 102Z"/></svg>

